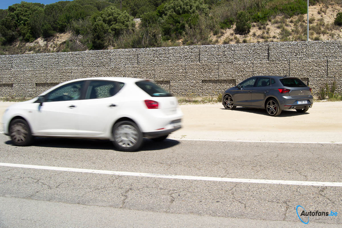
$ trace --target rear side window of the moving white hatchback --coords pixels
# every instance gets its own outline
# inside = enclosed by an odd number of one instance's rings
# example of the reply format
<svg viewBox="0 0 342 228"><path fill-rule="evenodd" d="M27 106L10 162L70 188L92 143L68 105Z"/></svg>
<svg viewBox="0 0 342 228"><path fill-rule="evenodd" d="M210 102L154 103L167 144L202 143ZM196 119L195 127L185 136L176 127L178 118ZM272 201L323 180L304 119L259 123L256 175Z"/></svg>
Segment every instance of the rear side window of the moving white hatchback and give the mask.
<svg viewBox="0 0 342 228"><path fill-rule="evenodd" d="M122 88L122 86L121 84L119 84L119 88L118 88L116 81L101 81L101 80L90 81L89 87L86 93L86 99L112 97L118 93L118 91Z"/></svg>

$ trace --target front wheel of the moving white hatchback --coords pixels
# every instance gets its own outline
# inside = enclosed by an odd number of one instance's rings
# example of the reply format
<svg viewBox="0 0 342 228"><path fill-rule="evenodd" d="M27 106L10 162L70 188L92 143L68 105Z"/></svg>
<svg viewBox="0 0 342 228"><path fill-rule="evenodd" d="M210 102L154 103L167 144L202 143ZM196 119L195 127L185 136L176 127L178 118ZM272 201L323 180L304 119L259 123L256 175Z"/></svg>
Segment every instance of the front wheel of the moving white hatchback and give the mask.
<svg viewBox="0 0 342 228"><path fill-rule="evenodd" d="M10 137L15 146L29 146L33 136L29 124L26 121L17 119L10 123Z"/></svg>

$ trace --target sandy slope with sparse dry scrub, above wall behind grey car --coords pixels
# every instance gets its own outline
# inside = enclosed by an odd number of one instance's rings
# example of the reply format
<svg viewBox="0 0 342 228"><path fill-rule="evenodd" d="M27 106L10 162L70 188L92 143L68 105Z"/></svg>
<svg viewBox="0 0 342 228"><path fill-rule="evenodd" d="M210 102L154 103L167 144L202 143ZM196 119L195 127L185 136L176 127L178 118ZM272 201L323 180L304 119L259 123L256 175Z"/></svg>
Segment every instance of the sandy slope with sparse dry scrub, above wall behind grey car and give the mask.
<svg viewBox="0 0 342 228"><path fill-rule="evenodd" d="M336 14L342 12L341 5L316 5L309 7L310 40L342 40L342 29L334 25ZM279 41L306 41L306 17L307 15L285 18L282 15L274 17L265 24L252 23L247 37L234 33L235 25L231 29L224 30L223 35L211 36L217 40L217 44Z"/></svg>

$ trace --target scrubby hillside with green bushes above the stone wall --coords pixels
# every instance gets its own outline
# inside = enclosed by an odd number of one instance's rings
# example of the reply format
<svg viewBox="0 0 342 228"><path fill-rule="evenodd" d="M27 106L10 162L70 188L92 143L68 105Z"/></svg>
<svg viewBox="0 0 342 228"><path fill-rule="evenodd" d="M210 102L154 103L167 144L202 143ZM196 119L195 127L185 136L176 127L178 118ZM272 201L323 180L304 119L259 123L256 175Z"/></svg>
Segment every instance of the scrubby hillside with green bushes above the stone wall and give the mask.
<svg viewBox="0 0 342 228"><path fill-rule="evenodd" d="M310 0L310 40L342 40L341 4ZM0 54L305 40L303 0L74 0L0 10Z"/></svg>

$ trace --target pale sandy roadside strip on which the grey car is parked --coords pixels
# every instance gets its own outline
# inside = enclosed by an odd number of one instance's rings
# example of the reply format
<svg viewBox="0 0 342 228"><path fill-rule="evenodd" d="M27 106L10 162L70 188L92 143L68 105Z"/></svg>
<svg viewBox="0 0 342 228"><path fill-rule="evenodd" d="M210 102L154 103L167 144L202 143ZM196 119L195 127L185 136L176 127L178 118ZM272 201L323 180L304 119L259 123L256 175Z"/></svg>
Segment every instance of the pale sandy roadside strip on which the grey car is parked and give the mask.
<svg viewBox="0 0 342 228"><path fill-rule="evenodd" d="M14 102L0 102L0 116ZM263 109L226 110L220 103L180 106L183 128L169 138L342 143L342 101L316 102L306 113ZM2 121L1 121L2 122Z"/></svg>

